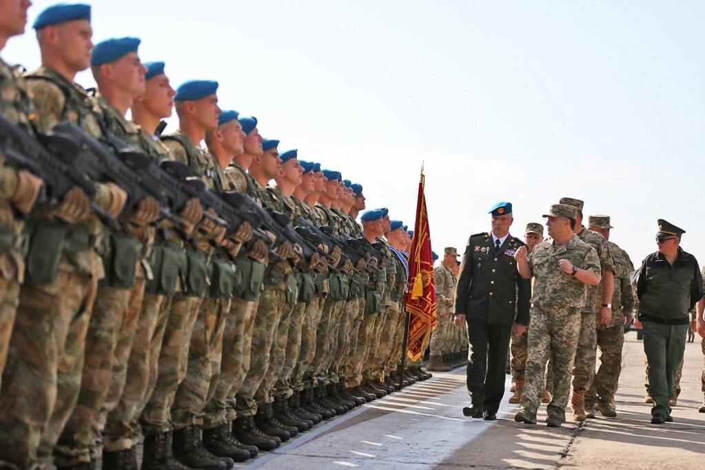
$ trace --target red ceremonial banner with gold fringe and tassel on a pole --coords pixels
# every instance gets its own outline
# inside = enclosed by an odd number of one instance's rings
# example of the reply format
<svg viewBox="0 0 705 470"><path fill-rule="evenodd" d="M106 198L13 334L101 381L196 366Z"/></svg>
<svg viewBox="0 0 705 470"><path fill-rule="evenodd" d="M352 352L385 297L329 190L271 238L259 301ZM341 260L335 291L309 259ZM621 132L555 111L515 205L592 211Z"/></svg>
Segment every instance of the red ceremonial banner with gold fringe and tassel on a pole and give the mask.
<svg viewBox="0 0 705 470"><path fill-rule="evenodd" d="M425 178L422 169L414 237L409 251L409 290L405 299L406 309L411 314L407 355L412 361L421 359L428 345L429 335L438 323L431 230L424 195Z"/></svg>

